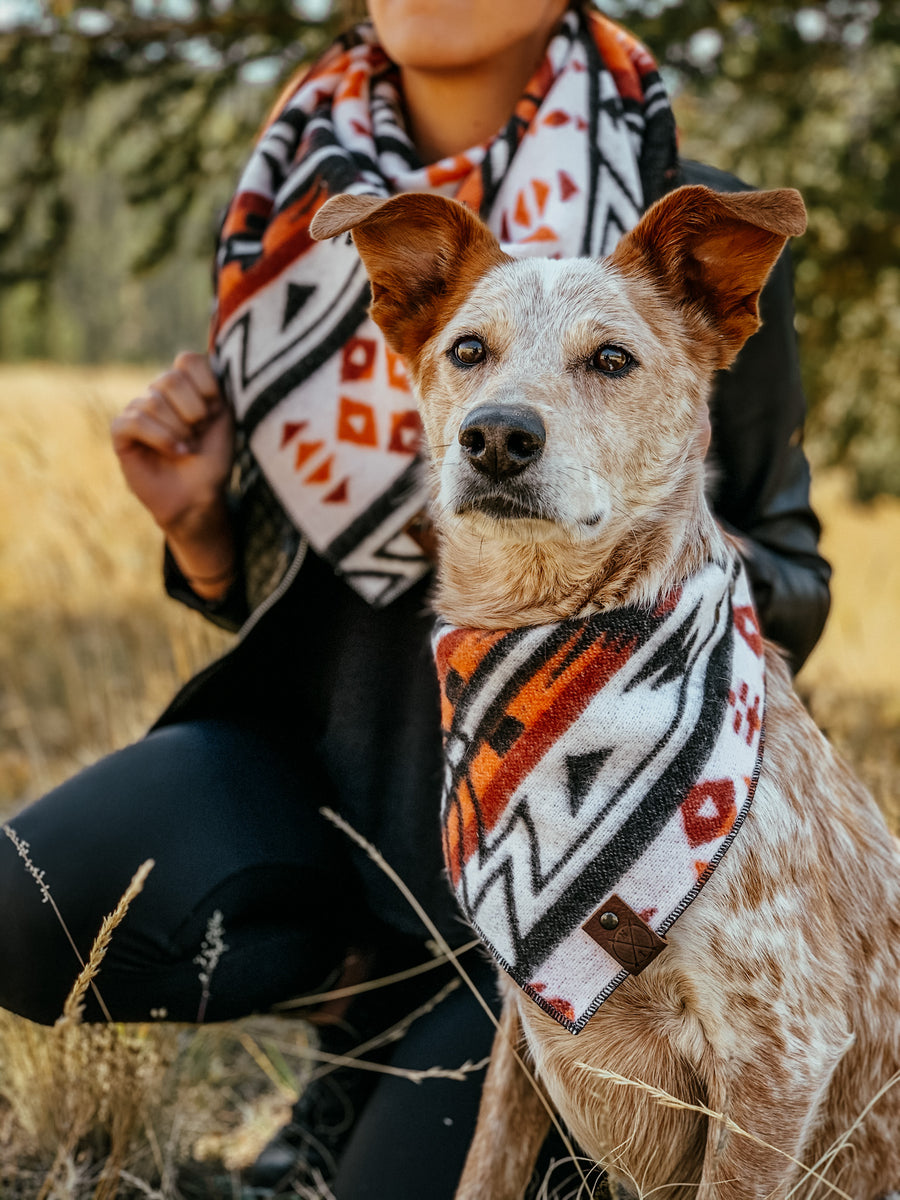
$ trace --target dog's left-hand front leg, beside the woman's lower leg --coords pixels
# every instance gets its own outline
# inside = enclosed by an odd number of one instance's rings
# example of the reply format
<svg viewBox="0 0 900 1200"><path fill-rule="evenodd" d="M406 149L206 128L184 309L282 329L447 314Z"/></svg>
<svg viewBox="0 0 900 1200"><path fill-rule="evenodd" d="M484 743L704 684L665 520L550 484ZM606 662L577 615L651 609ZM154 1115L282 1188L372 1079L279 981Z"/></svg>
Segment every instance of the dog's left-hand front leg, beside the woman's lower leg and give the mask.
<svg viewBox="0 0 900 1200"><path fill-rule="evenodd" d="M520 1200L534 1170L550 1114L522 1064L521 1034L516 1001L508 996L456 1200Z"/></svg>

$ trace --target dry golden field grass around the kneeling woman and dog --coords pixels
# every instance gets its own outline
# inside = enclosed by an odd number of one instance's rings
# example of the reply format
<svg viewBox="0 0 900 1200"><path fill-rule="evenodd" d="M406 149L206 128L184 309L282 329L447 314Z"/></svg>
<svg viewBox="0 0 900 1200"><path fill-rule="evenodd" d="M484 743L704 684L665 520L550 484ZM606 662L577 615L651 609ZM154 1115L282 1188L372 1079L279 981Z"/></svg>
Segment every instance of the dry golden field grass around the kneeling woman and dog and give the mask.
<svg viewBox="0 0 900 1200"><path fill-rule="evenodd" d="M108 445L110 414L151 374L0 365L0 821L13 826L228 644L162 595L158 536ZM822 473L815 503L834 607L799 686L900 832L900 502L859 508ZM305 1044L275 1018L43 1031L0 1014L0 1200L168 1200L191 1194L179 1171L203 1157L236 1189L229 1171L284 1115ZM239 1195L232 1184L218 1194Z"/></svg>

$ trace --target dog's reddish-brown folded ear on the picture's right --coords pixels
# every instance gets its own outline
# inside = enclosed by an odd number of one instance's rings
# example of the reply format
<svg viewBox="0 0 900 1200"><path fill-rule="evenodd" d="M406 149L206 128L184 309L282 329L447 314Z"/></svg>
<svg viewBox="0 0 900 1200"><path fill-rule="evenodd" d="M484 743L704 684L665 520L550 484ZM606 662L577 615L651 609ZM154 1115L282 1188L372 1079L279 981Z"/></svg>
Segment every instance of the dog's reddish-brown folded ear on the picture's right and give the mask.
<svg viewBox="0 0 900 1200"><path fill-rule="evenodd" d="M678 304L700 308L728 366L760 328L760 292L788 238L806 228L792 187L713 192L679 187L664 196L612 254L624 270L649 271Z"/></svg>

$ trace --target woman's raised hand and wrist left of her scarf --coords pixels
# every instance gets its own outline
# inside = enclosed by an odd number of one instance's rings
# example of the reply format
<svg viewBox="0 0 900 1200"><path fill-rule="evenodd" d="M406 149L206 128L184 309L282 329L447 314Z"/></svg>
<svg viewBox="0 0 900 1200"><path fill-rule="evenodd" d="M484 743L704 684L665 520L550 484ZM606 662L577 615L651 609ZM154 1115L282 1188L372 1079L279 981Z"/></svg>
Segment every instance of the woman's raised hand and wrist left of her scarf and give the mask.
<svg viewBox="0 0 900 1200"><path fill-rule="evenodd" d="M235 572L226 505L234 421L209 359L179 354L113 420L112 436L125 482L191 587L205 599L221 596Z"/></svg>

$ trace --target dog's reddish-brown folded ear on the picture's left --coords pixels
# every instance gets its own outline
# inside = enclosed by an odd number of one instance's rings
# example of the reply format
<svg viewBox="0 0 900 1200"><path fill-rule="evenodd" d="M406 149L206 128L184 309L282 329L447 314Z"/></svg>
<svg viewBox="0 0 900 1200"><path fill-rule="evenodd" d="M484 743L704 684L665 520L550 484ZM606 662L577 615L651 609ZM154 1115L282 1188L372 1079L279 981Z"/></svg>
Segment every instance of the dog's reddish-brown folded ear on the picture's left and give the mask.
<svg viewBox="0 0 900 1200"><path fill-rule="evenodd" d="M410 359L485 271L509 262L478 217L443 196L335 196L310 226L319 241L348 229L372 283L372 319Z"/></svg>

